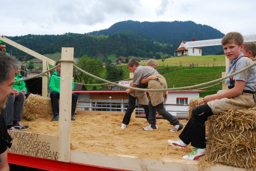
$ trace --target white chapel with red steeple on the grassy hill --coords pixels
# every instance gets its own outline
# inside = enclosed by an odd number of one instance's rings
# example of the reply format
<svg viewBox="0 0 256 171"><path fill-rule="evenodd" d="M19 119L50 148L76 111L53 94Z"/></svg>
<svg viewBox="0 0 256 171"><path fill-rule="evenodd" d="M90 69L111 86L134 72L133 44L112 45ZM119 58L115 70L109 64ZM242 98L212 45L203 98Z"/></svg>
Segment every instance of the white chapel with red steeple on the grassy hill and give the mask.
<svg viewBox="0 0 256 171"><path fill-rule="evenodd" d="M193 34L192 41L195 41L195 36ZM174 56L202 56L202 49L201 47L196 47L196 48L187 48L185 47L185 43L187 41L181 41L178 48L174 51Z"/></svg>

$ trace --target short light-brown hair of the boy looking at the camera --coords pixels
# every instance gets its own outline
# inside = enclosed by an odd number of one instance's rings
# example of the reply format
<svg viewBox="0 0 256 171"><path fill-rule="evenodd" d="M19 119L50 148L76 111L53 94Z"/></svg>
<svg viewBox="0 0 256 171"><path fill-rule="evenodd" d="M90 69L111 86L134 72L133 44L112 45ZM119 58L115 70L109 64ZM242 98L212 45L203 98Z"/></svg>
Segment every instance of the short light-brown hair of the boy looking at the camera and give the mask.
<svg viewBox="0 0 256 171"><path fill-rule="evenodd" d="M221 40L222 46L235 42L238 46L244 43L244 37L238 32L229 32Z"/></svg>

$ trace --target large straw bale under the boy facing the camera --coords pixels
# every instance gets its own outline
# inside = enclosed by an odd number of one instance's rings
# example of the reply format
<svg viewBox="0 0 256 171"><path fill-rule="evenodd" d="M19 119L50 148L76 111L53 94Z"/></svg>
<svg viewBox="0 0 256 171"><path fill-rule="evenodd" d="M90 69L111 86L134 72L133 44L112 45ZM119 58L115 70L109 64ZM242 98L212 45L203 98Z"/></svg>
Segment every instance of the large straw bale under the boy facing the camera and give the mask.
<svg viewBox="0 0 256 171"><path fill-rule="evenodd" d="M256 169L256 107L212 115L205 161Z"/></svg>

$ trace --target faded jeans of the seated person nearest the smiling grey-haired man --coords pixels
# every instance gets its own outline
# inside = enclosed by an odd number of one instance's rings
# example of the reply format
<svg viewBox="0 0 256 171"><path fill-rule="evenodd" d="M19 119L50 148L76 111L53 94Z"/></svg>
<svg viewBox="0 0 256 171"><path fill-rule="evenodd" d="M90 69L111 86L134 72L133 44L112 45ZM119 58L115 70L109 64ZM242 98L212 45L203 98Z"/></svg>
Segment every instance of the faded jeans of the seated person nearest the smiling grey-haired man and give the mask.
<svg viewBox="0 0 256 171"><path fill-rule="evenodd" d="M14 94L10 95L5 108L2 109L2 115L7 126L13 125L14 122L21 121L25 94L21 91L19 92L20 94L17 97L15 97Z"/></svg>

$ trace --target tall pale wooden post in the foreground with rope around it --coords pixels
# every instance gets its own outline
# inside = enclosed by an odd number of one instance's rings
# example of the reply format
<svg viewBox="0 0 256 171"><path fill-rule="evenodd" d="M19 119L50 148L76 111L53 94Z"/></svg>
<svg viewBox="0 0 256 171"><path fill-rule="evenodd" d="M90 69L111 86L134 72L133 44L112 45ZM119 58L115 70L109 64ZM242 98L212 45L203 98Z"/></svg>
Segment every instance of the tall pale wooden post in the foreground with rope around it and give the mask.
<svg viewBox="0 0 256 171"><path fill-rule="evenodd" d="M74 48L61 49L62 60L74 59ZM61 63L59 110L59 161L70 162L70 126L73 63Z"/></svg>

